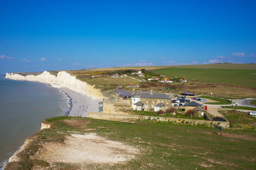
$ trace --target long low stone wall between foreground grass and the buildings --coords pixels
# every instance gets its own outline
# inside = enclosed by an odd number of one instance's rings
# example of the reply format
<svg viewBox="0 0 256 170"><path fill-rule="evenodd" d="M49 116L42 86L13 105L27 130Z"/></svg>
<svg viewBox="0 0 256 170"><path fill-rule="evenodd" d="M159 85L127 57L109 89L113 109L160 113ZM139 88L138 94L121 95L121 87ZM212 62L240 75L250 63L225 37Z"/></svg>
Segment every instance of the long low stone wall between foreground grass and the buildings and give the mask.
<svg viewBox="0 0 256 170"><path fill-rule="evenodd" d="M140 119L140 120L156 120L156 121L168 121L173 123L181 124L193 124L193 125L204 125L210 126L215 123L223 128L229 128L229 122L221 121L207 121L207 120L195 120L195 119L179 119L179 118L168 118L168 117L155 117L155 116L139 116L139 115L122 115L112 113L94 113L89 112L88 117L95 119Z"/></svg>

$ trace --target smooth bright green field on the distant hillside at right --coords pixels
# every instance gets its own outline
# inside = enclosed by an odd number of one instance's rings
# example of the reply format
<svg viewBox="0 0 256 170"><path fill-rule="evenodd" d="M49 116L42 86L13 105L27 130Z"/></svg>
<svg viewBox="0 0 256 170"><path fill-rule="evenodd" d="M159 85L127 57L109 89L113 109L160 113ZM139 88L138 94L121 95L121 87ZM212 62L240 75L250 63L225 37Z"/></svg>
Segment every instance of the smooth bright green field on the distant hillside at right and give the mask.
<svg viewBox="0 0 256 170"><path fill-rule="evenodd" d="M186 77L201 82L236 84L256 88L256 70L243 69L201 69L201 68L169 68L156 70L156 73L168 77Z"/></svg>

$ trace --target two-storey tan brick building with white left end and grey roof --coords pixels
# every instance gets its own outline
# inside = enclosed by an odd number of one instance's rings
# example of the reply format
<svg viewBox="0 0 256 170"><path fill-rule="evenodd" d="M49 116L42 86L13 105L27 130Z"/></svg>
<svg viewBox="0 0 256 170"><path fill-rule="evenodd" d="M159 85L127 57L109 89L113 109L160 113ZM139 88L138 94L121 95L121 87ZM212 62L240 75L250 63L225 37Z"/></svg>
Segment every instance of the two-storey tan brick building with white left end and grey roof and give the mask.
<svg viewBox="0 0 256 170"><path fill-rule="evenodd" d="M171 106L171 98L166 94L154 93L153 90L131 97L131 108L138 111L159 111Z"/></svg>

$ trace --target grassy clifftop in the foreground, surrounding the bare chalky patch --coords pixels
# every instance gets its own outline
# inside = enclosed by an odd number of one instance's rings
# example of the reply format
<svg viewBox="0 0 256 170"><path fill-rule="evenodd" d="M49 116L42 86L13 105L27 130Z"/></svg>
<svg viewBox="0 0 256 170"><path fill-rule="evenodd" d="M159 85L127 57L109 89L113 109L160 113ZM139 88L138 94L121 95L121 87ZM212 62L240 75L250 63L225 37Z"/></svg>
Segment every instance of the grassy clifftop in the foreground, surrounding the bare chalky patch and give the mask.
<svg viewBox="0 0 256 170"><path fill-rule="evenodd" d="M80 122L65 124L61 119ZM140 150L134 159L116 164L89 164L87 169L254 169L255 138L253 130L224 130L223 136L212 134L213 128L177 125L168 122L127 120L108 121L81 117L51 118L54 128L34 135L34 142L20 153L19 162L7 168L50 168L44 160L31 156L44 142L61 143L70 133L97 133L109 140L123 142ZM74 155L75 156L75 155ZM82 169L76 164L56 162L54 169Z"/></svg>

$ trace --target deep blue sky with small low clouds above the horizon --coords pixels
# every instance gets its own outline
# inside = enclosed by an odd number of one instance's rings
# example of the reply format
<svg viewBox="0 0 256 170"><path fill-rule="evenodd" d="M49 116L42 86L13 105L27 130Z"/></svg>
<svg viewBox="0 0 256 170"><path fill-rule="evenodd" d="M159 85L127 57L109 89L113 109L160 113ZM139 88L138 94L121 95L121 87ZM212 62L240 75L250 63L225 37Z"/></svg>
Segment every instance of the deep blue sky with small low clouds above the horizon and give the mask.
<svg viewBox="0 0 256 170"><path fill-rule="evenodd" d="M256 1L0 0L0 73L256 63Z"/></svg>

